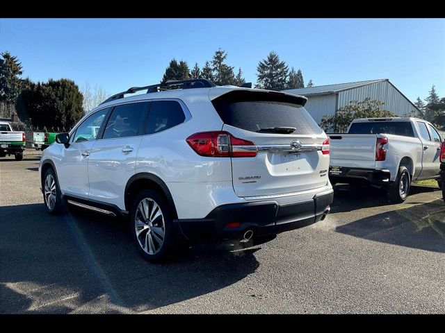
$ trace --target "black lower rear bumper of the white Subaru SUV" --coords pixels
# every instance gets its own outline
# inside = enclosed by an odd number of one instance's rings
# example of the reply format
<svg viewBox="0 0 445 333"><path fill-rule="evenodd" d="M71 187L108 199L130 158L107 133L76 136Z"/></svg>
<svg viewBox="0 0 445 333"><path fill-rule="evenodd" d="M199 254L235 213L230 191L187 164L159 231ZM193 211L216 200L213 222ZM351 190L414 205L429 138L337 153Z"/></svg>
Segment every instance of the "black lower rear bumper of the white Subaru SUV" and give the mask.
<svg viewBox="0 0 445 333"><path fill-rule="evenodd" d="M333 198L334 191L330 189L297 203L280 205L275 200L233 203L216 207L204 219L179 219L177 222L188 239L237 239L246 230L252 230L254 237L266 236L320 221L329 212ZM228 223L236 222L241 224L227 228Z"/></svg>

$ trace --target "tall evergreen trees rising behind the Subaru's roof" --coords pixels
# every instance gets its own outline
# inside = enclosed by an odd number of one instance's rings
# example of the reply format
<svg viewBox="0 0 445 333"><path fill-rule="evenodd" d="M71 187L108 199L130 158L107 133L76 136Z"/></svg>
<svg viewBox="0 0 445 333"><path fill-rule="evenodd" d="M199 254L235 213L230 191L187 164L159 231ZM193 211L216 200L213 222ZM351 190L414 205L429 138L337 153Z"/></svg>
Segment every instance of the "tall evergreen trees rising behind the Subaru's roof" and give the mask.
<svg viewBox="0 0 445 333"><path fill-rule="evenodd" d="M188 67L186 61L180 60L178 62L173 58L165 69L161 82L206 78L216 85L243 85L245 78L241 67L238 67L235 74L235 67L227 65L226 60L227 52L223 49L216 50L213 58L207 60L202 67L195 62L192 69ZM312 80L309 80L307 87L313 85ZM305 87L305 82L301 69L298 69L298 71L294 67L289 69L286 62L280 60L277 53L271 51L266 59L260 60L257 65L257 84L255 87L272 90L297 89Z"/></svg>

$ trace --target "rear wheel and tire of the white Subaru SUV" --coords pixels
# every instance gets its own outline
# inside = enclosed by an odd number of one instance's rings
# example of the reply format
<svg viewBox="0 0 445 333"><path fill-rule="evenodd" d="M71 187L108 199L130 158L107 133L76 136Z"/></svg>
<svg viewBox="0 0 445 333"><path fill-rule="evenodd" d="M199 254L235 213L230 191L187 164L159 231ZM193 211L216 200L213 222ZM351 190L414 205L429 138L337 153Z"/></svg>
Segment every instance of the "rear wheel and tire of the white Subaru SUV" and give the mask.
<svg viewBox="0 0 445 333"><path fill-rule="evenodd" d="M141 191L131 207L131 234L139 253L149 262L162 262L175 251L170 209L163 196L152 189Z"/></svg>

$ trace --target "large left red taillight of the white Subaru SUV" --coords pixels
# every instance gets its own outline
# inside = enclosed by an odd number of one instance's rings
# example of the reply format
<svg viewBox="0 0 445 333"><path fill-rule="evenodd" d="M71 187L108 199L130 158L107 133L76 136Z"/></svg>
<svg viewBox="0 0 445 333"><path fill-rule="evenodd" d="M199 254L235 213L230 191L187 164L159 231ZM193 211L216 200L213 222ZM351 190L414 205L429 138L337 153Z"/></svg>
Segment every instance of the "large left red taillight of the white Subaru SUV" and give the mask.
<svg viewBox="0 0 445 333"><path fill-rule="evenodd" d="M186 139L193 150L208 157L255 157L257 146L224 131L195 133Z"/></svg>

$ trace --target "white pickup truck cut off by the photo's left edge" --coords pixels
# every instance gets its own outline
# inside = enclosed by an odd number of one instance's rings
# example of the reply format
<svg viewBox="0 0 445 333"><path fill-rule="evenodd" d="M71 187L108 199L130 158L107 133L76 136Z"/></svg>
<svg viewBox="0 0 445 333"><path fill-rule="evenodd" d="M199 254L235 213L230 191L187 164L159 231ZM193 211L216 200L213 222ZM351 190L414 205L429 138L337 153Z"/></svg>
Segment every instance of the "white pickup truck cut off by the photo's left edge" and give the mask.
<svg viewBox="0 0 445 333"><path fill-rule="evenodd" d="M25 144L24 132L14 132L10 123L0 121L0 157L14 155L16 161L23 160Z"/></svg>

